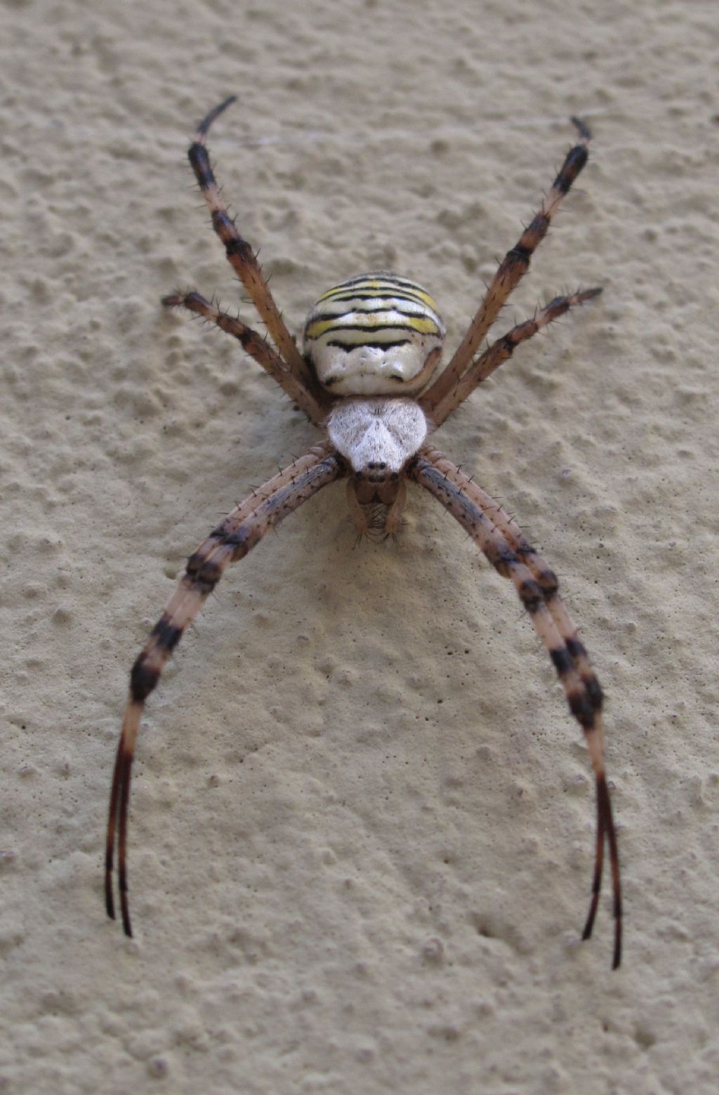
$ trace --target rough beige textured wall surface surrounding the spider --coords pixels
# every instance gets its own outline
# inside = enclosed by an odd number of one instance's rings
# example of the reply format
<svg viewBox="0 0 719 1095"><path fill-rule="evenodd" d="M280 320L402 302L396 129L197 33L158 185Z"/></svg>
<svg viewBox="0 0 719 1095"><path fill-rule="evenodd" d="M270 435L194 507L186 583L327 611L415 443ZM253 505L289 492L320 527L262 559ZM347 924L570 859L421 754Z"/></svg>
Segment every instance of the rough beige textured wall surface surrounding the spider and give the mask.
<svg viewBox="0 0 719 1095"><path fill-rule="evenodd" d="M719 1072L714 4L7 0L0 56L0 1092L703 1095ZM336 486L228 573L103 835L127 672L218 515L317 436L246 322L197 119L293 331L372 268L455 346L572 139L494 336L602 285L438 435L557 569L606 691L626 949L590 943L587 749L509 583L414 489Z"/></svg>

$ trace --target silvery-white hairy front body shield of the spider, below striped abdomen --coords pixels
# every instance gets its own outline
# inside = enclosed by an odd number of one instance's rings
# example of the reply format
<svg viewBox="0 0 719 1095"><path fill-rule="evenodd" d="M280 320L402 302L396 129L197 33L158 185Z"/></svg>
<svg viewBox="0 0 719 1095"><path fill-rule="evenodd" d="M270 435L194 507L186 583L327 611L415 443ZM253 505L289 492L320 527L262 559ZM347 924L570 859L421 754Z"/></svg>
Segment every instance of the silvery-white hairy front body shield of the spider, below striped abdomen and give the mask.
<svg viewBox="0 0 719 1095"><path fill-rule="evenodd" d="M380 481L414 457L427 437L427 419L414 400L348 399L334 407L327 433L355 472Z"/></svg>

